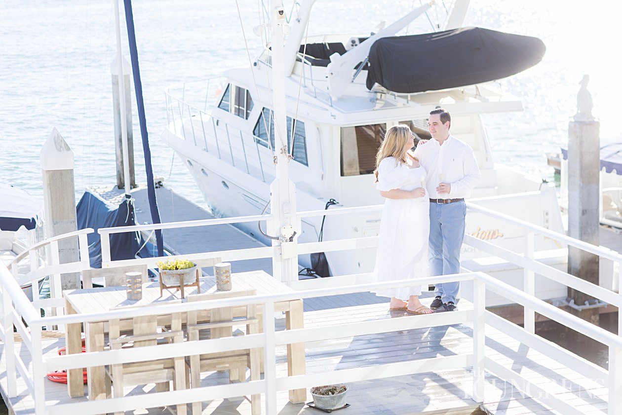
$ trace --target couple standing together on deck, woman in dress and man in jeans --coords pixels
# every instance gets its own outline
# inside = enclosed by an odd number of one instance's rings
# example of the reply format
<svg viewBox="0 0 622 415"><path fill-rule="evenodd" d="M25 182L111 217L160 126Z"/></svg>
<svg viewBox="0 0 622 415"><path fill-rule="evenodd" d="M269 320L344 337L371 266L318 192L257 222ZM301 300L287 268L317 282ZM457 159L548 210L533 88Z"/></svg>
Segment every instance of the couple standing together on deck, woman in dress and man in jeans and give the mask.
<svg viewBox="0 0 622 415"><path fill-rule="evenodd" d="M388 129L376 155L376 189L386 198L380 222L377 281L411 279L460 272L460 247L465 235L465 197L481 177L468 144L449 133L450 114L430 112L432 139L415 151L409 126ZM433 198L436 197L436 198ZM391 297L391 310L430 314L456 310L459 282L435 284L430 307L419 301L422 286L377 291Z"/></svg>

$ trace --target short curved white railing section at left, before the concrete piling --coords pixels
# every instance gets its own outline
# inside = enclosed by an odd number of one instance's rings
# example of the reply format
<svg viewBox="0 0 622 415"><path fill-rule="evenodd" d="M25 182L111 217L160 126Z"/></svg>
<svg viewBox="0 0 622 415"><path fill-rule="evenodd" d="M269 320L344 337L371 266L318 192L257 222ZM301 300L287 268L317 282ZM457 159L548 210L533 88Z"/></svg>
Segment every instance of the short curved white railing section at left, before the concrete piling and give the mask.
<svg viewBox="0 0 622 415"><path fill-rule="evenodd" d="M41 297L40 290L43 287L42 284L39 284L39 281L45 277L49 277L57 282L56 284L50 283L50 296L52 298L60 298L60 275L80 272L85 264L89 264L87 236L90 233L93 233L93 229L86 228L40 241L35 245L29 246L22 253L17 255L11 263L7 264L7 269L20 286L31 284L33 301L39 301ZM80 260L61 264L58 258L59 243L61 245L67 242L75 243L76 239L78 243L77 246L79 247ZM45 256L48 259L48 264L45 267L42 267L39 261L41 256L40 251L46 251ZM20 264L22 262L29 263L30 265L30 271L27 273L20 273ZM40 308L44 308L44 305Z"/></svg>

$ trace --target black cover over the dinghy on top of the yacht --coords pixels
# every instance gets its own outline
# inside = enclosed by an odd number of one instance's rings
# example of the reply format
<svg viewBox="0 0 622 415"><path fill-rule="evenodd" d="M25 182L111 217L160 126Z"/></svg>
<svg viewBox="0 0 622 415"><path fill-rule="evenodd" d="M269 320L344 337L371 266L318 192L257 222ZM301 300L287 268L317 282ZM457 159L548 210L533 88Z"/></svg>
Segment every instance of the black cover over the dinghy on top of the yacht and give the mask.
<svg viewBox="0 0 622 415"><path fill-rule="evenodd" d="M397 93L442 90L493 81L542 60L537 37L463 27L422 35L384 37L369 50L367 88Z"/></svg>

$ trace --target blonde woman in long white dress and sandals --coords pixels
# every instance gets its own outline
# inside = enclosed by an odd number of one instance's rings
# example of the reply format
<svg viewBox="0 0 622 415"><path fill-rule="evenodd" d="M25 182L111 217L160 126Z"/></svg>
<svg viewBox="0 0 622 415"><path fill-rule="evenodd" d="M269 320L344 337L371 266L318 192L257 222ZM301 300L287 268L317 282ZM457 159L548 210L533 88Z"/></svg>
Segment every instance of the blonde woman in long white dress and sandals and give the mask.
<svg viewBox="0 0 622 415"><path fill-rule="evenodd" d="M430 203L425 197L425 169L409 150L414 147L411 129L399 124L384 134L376 154L376 189L386 197L380 222L374 275L378 281L429 276L428 235ZM430 314L419 301L422 287L376 291L391 297L391 310Z"/></svg>

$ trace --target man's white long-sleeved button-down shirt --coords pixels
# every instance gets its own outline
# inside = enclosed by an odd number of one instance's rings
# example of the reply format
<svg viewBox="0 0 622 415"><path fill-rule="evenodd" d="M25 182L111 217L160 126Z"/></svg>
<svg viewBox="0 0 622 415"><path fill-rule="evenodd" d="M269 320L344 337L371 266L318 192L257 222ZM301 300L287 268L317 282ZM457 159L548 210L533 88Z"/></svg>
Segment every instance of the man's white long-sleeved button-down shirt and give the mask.
<svg viewBox="0 0 622 415"><path fill-rule="evenodd" d="M427 172L425 190L433 199L469 197L481 177L473 149L451 135L442 146L434 138L417 146L415 157ZM437 194L439 183L452 186L449 194Z"/></svg>

